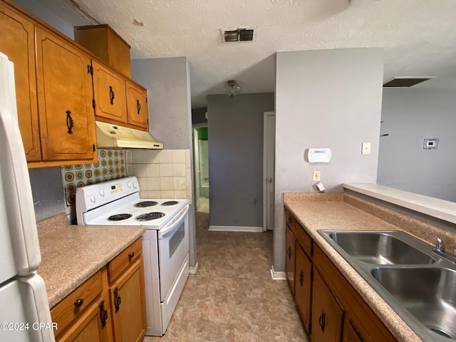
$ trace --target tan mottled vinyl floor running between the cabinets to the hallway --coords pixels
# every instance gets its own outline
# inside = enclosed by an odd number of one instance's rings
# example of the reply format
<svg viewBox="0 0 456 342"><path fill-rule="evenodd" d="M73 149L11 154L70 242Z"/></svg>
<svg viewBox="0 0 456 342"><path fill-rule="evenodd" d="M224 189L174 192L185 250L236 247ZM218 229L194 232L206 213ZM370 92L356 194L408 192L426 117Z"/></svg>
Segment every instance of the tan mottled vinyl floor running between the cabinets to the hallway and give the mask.
<svg viewBox="0 0 456 342"><path fill-rule="evenodd" d="M308 341L288 282L271 279L272 232L208 232L208 202L196 212L197 275L165 336L143 341Z"/></svg>

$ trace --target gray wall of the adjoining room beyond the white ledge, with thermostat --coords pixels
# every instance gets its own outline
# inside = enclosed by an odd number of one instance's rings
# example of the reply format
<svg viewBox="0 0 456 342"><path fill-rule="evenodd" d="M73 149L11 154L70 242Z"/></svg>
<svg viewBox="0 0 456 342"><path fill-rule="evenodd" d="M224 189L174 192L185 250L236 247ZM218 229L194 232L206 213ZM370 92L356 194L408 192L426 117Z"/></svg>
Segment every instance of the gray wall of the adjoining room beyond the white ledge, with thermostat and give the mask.
<svg viewBox="0 0 456 342"><path fill-rule="evenodd" d="M384 89L377 183L456 202L455 108L455 90Z"/></svg>

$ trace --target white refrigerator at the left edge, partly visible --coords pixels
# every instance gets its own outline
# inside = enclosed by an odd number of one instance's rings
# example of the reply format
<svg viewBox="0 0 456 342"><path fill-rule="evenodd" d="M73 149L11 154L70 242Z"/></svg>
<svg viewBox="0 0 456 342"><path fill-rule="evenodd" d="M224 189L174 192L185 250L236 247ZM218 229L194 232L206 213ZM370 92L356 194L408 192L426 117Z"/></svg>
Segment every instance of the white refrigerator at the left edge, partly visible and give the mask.
<svg viewBox="0 0 456 342"><path fill-rule="evenodd" d="M40 263L14 66L0 53L0 341L55 341Z"/></svg>

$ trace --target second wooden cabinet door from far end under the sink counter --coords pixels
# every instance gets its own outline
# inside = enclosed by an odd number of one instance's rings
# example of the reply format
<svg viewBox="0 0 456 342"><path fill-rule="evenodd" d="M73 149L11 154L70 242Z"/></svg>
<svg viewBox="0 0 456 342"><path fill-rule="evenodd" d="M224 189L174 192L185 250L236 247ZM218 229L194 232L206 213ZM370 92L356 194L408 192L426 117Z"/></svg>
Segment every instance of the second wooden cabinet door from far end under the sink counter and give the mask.
<svg viewBox="0 0 456 342"><path fill-rule="evenodd" d="M301 313L304 326L309 333L309 325L311 323L311 289L312 289L312 263L307 257L306 252L302 249L299 243L296 243L296 271L295 271L295 286L294 298L296 305Z"/></svg>

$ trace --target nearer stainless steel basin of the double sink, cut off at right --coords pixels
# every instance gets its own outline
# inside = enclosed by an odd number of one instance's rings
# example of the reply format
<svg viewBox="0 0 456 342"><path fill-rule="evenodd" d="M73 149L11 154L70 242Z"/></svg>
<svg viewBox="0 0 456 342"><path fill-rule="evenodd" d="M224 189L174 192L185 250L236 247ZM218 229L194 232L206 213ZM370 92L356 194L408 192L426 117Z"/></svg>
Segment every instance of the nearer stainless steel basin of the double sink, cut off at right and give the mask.
<svg viewBox="0 0 456 342"><path fill-rule="evenodd" d="M372 276L431 331L456 339L456 271L376 267Z"/></svg>

